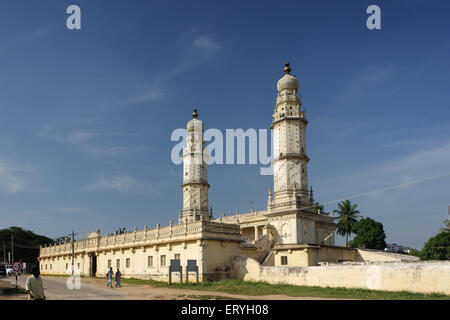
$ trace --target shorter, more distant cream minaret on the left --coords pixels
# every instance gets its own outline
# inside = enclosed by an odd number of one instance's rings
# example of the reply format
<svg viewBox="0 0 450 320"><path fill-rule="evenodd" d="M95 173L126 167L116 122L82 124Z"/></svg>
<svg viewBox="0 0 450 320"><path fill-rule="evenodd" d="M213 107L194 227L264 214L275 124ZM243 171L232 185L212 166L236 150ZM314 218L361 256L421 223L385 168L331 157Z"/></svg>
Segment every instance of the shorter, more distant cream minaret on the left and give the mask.
<svg viewBox="0 0 450 320"><path fill-rule="evenodd" d="M180 223L207 220L208 212L208 166L203 141L203 122L198 120L197 109L187 123L188 136L183 148L183 211Z"/></svg>

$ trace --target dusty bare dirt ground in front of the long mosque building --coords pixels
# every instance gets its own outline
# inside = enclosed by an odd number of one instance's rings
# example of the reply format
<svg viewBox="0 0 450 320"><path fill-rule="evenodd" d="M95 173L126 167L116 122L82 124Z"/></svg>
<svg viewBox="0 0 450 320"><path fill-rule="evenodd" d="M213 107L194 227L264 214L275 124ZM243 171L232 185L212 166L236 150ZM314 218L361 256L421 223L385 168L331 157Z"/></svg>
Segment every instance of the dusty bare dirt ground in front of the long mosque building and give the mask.
<svg viewBox="0 0 450 320"><path fill-rule="evenodd" d="M19 277L19 286L25 287L27 276ZM290 297L286 295L246 296L225 292L188 290L178 288L156 288L151 285L124 283L121 288L107 288L106 280L81 278L81 289L70 290L66 277L44 276L45 295L48 300L185 300L185 299L228 299L228 300L330 300L325 298ZM7 278L2 286L14 287L15 279ZM0 299L26 299L26 295L2 295Z"/></svg>

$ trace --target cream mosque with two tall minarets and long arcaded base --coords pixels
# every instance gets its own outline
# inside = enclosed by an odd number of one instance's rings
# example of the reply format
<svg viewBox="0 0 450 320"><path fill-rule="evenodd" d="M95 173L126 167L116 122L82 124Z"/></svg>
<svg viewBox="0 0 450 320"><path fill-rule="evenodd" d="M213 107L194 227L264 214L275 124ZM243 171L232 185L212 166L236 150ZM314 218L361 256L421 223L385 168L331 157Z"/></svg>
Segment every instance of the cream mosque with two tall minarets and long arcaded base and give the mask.
<svg viewBox="0 0 450 320"><path fill-rule="evenodd" d="M120 268L124 277L167 280L169 265L182 267L195 260L199 280L229 278L236 257L255 259L263 266L314 266L321 262L352 261L353 249L335 246L334 219L315 211L308 188L305 109L299 82L289 63L278 81L270 128L273 130L273 192L267 208L214 218L208 204L208 166L204 125L197 110L187 123L183 149L183 206L178 223L123 234L90 232L73 243L41 247L42 274L76 272L103 277ZM73 259L73 260L72 260Z"/></svg>

